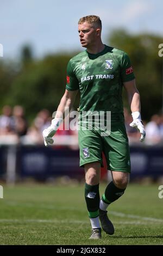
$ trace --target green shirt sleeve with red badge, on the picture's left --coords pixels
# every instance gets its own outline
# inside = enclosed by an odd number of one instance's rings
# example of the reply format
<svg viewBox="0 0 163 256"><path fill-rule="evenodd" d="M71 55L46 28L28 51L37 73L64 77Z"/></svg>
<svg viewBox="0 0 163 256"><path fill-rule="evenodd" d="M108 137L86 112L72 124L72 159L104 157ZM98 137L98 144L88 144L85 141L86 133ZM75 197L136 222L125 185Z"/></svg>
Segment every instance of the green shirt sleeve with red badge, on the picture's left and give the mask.
<svg viewBox="0 0 163 256"><path fill-rule="evenodd" d="M67 90L78 90L79 89L79 81L76 75L73 72L71 60L67 64Z"/></svg>

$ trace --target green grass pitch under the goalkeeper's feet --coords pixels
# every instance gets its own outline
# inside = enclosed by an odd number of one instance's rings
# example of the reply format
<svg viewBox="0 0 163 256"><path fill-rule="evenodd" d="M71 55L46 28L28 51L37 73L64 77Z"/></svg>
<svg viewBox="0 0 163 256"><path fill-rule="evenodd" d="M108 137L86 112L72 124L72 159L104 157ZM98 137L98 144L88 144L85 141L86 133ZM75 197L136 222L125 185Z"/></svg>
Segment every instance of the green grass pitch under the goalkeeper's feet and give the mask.
<svg viewBox="0 0 163 256"><path fill-rule="evenodd" d="M108 208L115 234L101 240L89 240L84 184L4 186L0 245L163 245L159 185L129 184Z"/></svg>

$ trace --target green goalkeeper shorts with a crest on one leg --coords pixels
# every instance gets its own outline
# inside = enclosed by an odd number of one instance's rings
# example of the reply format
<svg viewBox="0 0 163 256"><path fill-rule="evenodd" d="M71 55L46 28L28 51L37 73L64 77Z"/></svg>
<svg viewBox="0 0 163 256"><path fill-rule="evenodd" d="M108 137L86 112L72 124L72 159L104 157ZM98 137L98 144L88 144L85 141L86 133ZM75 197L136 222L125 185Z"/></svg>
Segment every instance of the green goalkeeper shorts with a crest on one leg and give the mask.
<svg viewBox="0 0 163 256"><path fill-rule="evenodd" d="M103 152L108 170L130 173L129 144L124 123L111 123L110 135L101 134L100 129L85 131L83 126L79 126L80 167L96 161L103 166Z"/></svg>

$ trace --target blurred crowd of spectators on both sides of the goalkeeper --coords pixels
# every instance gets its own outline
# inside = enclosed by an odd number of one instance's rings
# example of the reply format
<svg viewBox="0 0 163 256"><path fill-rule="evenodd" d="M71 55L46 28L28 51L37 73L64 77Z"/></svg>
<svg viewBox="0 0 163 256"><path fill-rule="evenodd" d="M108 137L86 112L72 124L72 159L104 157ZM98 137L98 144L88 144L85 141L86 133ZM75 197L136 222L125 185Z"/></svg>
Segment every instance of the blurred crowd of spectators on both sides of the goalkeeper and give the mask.
<svg viewBox="0 0 163 256"><path fill-rule="evenodd" d="M51 125L52 115L48 109L41 109L36 114L32 124L28 124L26 114L22 106L14 106L11 108L6 105L2 109L0 115L0 144L24 143L24 144L43 144L42 131ZM136 129L130 127L132 117L127 108L124 108L124 118L129 143L139 143L140 133ZM143 121L146 129L146 144L163 143L163 114L154 114L148 123ZM63 127L64 128L64 127ZM70 147L78 148L78 132L77 130L58 129L55 138L59 136L73 136L73 142ZM59 147L58 143L58 146ZM61 143L63 145L64 143ZM61 146L60 146L61 147Z"/></svg>

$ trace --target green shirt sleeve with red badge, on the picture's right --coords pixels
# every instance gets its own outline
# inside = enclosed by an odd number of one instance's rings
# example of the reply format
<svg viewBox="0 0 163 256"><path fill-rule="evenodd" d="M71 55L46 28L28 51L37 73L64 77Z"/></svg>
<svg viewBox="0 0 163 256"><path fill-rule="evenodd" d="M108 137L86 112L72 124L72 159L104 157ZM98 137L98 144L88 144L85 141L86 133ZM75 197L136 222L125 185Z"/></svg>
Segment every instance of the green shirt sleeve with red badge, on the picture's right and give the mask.
<svg viewBox="0 0 163 256"><path fill-rule="evenodd" d="M129 82L135 78L133 66L131 66L130 58L126 52L123 53L121 60L121 77L122 82Z"/></svg>

